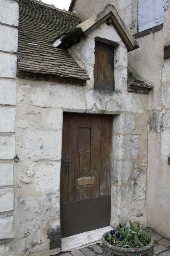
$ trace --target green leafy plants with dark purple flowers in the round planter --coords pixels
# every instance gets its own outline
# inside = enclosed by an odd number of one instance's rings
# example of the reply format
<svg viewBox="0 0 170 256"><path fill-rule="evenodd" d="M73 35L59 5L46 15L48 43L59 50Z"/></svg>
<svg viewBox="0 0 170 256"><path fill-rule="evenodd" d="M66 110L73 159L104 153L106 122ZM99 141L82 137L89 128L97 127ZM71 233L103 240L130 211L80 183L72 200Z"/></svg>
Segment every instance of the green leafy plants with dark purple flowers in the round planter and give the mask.
<svg viewBox="0 0 170 256"><path fill-rule="evenodd" d="M139 248L148 245L151 242L152 234L149 235L148 229L145 232L140 230L140 224L132 224L129 220L129 227L123 228L119 225L118 228L111 230L106 237L106 241L114 246L122 248Z"/></svg>

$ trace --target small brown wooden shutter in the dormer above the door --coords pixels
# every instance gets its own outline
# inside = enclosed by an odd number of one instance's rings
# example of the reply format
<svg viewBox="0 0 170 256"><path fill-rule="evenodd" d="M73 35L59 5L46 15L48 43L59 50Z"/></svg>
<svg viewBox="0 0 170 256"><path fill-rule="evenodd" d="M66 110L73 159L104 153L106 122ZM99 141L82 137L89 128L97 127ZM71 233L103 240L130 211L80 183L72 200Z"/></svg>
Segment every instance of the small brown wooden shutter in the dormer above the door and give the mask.
<svg viewBox="0 0 170 256"><path fill-rule="evenodd" d="M114 47L95 41L94 88L114 91Z"/></svg>

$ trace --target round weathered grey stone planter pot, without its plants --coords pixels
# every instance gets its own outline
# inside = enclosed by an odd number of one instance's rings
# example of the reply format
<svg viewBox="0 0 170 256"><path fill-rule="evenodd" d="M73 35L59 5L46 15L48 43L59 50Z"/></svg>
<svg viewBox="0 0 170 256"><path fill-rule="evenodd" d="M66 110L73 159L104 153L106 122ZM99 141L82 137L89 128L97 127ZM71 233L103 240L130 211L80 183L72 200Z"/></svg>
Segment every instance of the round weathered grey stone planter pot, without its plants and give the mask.
<svg viewBox="0 0 170 256"><path fill-rule="evenodd" d="M134 248L134 249L127 249L127 248L120 248L117 246L113 246L106 242L105 238L107 235L109 235L109 232L106 232L102 236L102 250L105 256L152 256L154 253L153 245L154 240L152 238L150 244L140 247L140 248Z"/></svg>

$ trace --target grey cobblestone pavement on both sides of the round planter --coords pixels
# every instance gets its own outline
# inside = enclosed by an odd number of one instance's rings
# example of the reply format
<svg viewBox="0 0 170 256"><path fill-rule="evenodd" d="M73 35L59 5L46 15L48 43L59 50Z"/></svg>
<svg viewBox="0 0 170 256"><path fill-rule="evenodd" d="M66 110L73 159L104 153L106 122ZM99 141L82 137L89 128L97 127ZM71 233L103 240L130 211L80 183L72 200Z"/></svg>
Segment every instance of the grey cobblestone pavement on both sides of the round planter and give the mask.
<svg viewBox="0 0 170 256"><path fill-rule="evenodd" d="M160 236L158 233L150 230L153 233L154 244L154 255L158 256L170 256L170 239ZM83 249L77 249L70 252L61 252L57 256L101 256L102 243L96 243L94 245L87 246Z"/></svg>

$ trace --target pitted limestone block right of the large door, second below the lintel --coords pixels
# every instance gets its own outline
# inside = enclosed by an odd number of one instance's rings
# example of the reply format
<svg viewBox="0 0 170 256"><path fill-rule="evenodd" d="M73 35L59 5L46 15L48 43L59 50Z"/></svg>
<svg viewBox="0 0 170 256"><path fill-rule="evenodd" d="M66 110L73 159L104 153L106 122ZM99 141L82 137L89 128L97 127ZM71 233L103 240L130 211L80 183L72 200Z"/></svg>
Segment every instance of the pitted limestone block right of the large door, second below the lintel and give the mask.
<svg viewBox="0 0 170 256"><path fill-rule="evenodd" d="M137 158L140 150L140 139L140 135L115 135L113 142L114 158Z"/></svg>

